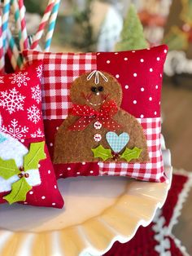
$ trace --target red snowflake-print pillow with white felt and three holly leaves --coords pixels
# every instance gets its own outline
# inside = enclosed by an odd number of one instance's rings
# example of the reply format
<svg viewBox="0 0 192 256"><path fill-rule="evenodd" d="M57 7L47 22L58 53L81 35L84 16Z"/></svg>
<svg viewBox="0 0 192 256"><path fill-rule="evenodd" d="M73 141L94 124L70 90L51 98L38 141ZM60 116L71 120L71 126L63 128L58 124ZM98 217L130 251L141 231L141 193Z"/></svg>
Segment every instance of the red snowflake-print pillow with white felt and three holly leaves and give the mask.
<svg viewBox="0 0 192 256"><path fill-rule="evenodd" d="M44 138L42 63L0 77L0 203L63 207Z"/></svg>

